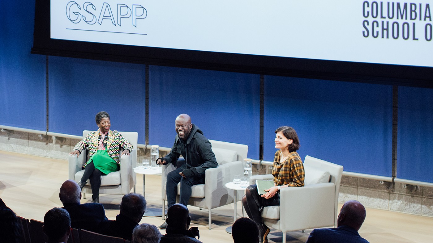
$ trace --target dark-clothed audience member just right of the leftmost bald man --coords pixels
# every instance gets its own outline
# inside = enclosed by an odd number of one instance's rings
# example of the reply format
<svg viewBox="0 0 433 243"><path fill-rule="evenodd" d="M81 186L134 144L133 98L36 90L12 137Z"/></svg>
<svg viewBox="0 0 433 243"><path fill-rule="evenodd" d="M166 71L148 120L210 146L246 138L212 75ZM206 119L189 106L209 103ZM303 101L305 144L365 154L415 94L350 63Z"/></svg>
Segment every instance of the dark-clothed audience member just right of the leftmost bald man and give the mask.
<svg viewBox="0 0 433 243"><path fill-rule="evenodd" d="M102 221L98 233L131 240L132 231L138 226L145 210L146 199L141 194L126 194L120 203L120 214L117 214L116 220Z"/></svg>

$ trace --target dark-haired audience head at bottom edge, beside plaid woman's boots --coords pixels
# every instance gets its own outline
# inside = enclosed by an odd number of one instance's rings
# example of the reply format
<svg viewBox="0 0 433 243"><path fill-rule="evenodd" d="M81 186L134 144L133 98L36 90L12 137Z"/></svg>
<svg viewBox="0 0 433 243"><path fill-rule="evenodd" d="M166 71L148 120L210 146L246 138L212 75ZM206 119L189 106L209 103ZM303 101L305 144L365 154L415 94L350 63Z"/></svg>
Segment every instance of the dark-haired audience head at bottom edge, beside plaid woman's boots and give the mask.
<svg viewBox="0 0 433 243"><path fill-rule="evenodd" d="M248 217L238 218L232 226L234 243L259 243L259 228Z"/></svg>

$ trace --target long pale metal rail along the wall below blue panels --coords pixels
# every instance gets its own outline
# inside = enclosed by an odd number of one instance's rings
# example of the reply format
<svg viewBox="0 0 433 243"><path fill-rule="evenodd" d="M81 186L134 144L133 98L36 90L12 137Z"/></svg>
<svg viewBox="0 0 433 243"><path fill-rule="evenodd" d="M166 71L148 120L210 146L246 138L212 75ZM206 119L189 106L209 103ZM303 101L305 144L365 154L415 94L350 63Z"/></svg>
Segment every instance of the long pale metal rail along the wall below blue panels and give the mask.
<svg viewBox="0 0 433 243"><path fill-rule="evenodd" d="M52 136L52 137L64 137L64 138L72 138L72 139L83 139L82 136L77 135L70 135L70 134L62 134L62 133L56 133L56 132L50 132L50 131L39 131L34 129L28 129L28 128L18 128L18 127L11 127L11 126L5 126L0 125L1 131L10 131L13 133L13 131L20 131L20 132L28 132L33 134L40 134L40 135L46 135L46 136ZM137 147L143 148L143 149L151 149L150 144L137 144ZM159 147L160 151L170 152L171 148L169 147ZM256 164L258 166L268 166L267 172L269 173L269 167L273 165L272 161L266 161L266 160L252 160L253 164ZM421 181L415 181L415 180L407 180L407 179L399 179L394 177L387 177L387 176L376 176L376 175L369 175L369 174L362 174L362 173L355 173L355 172L348 172L343 171L343 176L350 176L350 177L356 177L356 178L364 178L364 179L373 179L378 180L381 183L402 183L405 184L405 186L411 187L411 186L426 186L426 187L433 187L433 183L430 182L421 182Z"/></svg>

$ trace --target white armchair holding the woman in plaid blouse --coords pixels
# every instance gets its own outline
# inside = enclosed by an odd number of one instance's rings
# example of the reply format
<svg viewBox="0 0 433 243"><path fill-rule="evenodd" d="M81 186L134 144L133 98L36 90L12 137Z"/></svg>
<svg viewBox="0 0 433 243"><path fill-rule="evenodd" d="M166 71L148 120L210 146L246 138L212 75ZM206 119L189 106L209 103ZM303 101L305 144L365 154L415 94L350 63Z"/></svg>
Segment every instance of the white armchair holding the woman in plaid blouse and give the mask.
<svg viewBox="0 0 433 243"><path fill-rule="evenodd" d="M305 186L284 187L280 191L280 206L263 208L265 225L283 232L320 227L336 227L338 193L343 166L306 156L304 160ZM252 176L256 180L272 180L272 175Z"/></svg>

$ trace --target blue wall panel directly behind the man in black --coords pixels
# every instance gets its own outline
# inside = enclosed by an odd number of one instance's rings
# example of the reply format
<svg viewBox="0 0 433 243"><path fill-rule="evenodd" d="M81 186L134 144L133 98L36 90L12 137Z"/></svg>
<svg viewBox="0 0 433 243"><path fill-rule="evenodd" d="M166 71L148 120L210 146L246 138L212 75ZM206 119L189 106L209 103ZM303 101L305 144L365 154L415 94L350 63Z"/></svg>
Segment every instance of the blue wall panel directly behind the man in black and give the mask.
<svg viewBox="0 0 433 243"><path fill-rule="evenodd" d="M247 144L258 158L259 92L259 75L150 66L149 143L171 147L187 113L208 139Z"/></svg>

